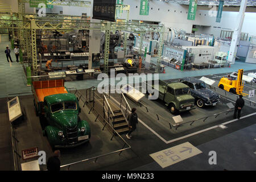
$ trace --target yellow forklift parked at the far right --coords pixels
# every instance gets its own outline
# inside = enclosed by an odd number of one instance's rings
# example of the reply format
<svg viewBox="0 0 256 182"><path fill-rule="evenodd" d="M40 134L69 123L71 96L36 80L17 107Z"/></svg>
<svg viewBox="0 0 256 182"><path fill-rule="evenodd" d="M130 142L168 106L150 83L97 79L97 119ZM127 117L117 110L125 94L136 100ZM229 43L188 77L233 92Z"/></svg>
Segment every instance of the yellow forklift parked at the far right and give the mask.
<svg viewBox="0 0 256 182"><path fill-rule="evenodd" d="M237 79L236 79L237 78ZM238 73L233 75L233 77L228 76L228 78L223 77L221 78L220 82L218 83L218 88L226 90L233 94L243 95L246 96L248 94L242 93L243 92L243 69L239 69Z"/></svg>

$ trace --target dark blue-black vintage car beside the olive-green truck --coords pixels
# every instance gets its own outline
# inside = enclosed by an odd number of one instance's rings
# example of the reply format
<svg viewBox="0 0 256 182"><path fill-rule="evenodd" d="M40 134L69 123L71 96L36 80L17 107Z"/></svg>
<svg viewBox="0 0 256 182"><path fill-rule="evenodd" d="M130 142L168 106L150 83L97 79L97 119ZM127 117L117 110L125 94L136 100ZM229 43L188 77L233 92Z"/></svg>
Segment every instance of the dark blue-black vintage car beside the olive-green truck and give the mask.
<svg viewBox="0 0 256 182"><path fill-rule="evenodd" d="M215 106L220 102L220 95L207 89L203 81L194 77L184 77L180 78L180 82L189 86L197 106Z"/></svg>

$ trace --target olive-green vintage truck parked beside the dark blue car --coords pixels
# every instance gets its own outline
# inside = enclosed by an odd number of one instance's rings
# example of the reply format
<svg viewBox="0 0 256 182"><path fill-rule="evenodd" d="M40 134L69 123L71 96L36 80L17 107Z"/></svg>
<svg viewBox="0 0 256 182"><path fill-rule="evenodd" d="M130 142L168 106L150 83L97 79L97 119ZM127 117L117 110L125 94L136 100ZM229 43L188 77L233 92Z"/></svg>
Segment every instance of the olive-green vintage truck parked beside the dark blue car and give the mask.
<svg viewBox="0 0 256 182"><path fill-rule="evenodd" d="M167 83L159 80L152 88L159 90L158 98L166 103L171 113L195 109L195 98L191 96L189 87L181 82Z"/></svg>

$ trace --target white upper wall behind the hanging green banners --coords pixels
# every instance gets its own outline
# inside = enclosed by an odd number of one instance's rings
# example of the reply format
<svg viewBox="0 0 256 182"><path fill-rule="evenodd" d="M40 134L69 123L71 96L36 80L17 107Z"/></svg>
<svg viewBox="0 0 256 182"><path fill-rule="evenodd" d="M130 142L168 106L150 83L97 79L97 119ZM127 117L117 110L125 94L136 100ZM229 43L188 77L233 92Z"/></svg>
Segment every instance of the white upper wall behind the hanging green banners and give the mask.
<svg viewBox="0 0 256 182"><path fill-rule="evenodd" d="M150 1L149 15L143 16L139 15L140 0L124 0L124 4L131 6L129 19L161 22L166 27L173 27L177 30L183 29L188 33L191 33L193 24L211 26L210 28L204 28L204 31L206 31L205 33L214 34L214 36L220 36L221 30L232 30L235 26L238 15L238 12L223 11L221 23L217 23L216 17L210 16L211 14L208 10L197 10L196 20L187 20L188 6L181 6L174 3L170 4L160 1ZM136 6L138 7L136 8ZM200 8L198 7L198 9ZM242 32L247 32L249 35L256 35L255 22L256 13L245 13L245 21L243 23Z"/></svg>

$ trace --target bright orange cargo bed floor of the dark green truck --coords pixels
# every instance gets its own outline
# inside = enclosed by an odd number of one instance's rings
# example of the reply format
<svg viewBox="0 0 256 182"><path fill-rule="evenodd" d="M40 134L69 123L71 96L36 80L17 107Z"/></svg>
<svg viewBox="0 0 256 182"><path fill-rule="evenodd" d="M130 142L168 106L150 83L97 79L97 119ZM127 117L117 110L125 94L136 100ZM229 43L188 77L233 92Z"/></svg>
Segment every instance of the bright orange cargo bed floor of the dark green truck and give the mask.
<svg viewBox="0 0 256 182"><path fill-rule="evenodd" d="M46 88L46 89L36 89L36 96L38 96L38 101L43 102L44 97L51 96L53 94L60 94L60 93L68 93L64 86L55 87L55 88Z"/></svg>

